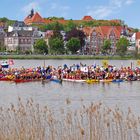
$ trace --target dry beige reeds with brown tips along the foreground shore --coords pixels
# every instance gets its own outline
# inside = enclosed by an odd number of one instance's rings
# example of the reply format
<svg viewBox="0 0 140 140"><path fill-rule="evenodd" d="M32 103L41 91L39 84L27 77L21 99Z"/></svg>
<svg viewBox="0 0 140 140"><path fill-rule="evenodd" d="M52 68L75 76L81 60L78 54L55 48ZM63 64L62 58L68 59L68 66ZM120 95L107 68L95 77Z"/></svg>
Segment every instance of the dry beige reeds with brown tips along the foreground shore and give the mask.
<svg viewBox="0 0 140 140"><path fill-rule="evenodd" d="M69 106L71 101L66 99ZM140 117L102 103L54 112L29 99L0 107L0 140L139 140Z"/></svg>

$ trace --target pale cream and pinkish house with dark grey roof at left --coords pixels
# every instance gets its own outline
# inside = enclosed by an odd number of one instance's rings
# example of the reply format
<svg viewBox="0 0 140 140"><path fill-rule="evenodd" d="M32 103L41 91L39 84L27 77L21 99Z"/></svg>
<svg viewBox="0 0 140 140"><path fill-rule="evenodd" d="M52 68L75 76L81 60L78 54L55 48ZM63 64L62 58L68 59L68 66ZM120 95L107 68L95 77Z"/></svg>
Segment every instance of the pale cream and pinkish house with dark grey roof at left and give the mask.
<svg viewBox="0 0 140 140"><path fill-rule="evenodd" d="M12 31L6 34L4 44L7 51L33 51L35 41L42 37L38 31Z"/></svg>

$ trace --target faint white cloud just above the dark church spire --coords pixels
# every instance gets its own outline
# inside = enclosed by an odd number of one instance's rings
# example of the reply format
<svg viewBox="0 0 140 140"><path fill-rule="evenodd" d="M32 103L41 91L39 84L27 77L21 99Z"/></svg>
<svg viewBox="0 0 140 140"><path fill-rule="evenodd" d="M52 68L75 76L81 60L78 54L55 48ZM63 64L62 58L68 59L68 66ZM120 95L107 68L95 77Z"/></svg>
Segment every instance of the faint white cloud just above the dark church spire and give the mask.
<svg viewBox="0 0 140 140"><path fill-rule="evenodd" d="M22 8L22 11L27 14L31 11L31 9L34 9L36 11L40 11L40 5L38 2L31 2L27 5L25 5L23 8Z"/></svg>

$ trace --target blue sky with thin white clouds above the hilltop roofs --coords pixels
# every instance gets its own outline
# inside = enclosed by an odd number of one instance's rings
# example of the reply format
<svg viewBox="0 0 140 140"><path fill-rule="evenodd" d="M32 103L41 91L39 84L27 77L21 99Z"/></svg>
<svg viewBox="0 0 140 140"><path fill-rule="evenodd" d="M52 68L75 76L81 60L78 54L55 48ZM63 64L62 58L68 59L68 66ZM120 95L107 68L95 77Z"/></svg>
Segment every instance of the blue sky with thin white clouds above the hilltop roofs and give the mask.
<svg viewBox="0 0 140 140"><path fill-rule="evenodd" d="M122 19L130 27L140 28L140 0L4 0L0 17L24 20L32 8L43 17L82 19Z"/></svg>

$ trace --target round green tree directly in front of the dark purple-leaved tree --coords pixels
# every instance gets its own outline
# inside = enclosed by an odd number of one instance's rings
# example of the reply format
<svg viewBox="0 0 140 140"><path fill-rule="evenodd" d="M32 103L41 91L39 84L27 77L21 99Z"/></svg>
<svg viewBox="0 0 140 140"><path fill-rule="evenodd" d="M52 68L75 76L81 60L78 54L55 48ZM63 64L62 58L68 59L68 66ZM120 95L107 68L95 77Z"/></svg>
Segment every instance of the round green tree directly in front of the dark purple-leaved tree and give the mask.
<svg viewBox="0 0 140 140"><path fill-rule="evenodd" d="M72 37L66 44L68 51L72 54L76 54L80 47L80 40L78 38Z"/></svg>

